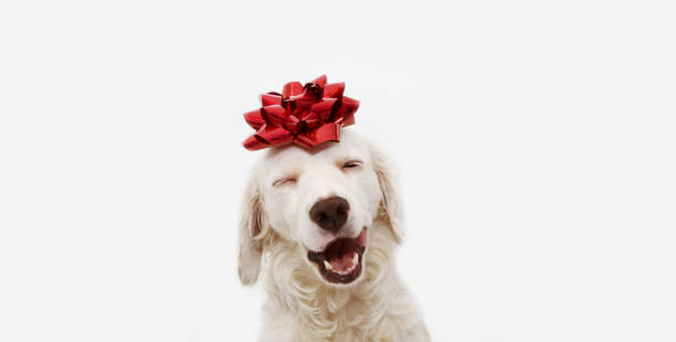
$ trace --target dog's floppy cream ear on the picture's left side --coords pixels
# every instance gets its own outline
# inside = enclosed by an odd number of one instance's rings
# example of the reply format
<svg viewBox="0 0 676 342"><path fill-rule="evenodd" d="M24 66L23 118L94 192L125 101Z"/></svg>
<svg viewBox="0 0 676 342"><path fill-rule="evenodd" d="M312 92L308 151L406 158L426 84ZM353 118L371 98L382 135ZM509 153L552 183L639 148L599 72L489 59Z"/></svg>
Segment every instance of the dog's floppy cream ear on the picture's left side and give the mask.
<svg viewBox="0 0 676 342"><path fill-rule="evenodd" d="M261 194L252 179L244 191L240 218L239 274L243 285L253 285L258 279L265 224L263 216Z"/></svg>

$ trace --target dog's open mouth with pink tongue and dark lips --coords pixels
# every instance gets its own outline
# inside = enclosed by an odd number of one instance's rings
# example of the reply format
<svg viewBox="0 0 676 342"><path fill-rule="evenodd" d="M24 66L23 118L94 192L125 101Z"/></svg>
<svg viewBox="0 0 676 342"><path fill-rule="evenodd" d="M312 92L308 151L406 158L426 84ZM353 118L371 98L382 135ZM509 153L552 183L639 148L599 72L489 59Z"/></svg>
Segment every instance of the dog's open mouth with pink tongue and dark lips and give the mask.
<svg viewBox="0 0 676 342"><path fill-rule="evenodd" d="M307 258L317 264L319 272L329 282L350 284L359 278L363 253L367 246L367 228L355 238L337 238L324 252L307 253Z"/></svg>

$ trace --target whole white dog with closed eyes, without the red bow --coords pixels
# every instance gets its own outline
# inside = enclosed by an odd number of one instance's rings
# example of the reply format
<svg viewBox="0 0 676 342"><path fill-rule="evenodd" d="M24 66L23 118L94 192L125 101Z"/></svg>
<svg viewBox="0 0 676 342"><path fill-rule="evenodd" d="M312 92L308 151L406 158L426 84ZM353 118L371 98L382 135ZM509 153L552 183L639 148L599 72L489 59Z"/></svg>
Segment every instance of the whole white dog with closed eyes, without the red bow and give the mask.
<svg viewBox="0 0 676 342"><path fill-rule="evenodd" d="M429 341L402 286L402 238L391 169L352 131L310 151L271 149L247 185L240 279L262 268L267 300L261 341ZM263 257L264 256L264 257Z"/></svg>

